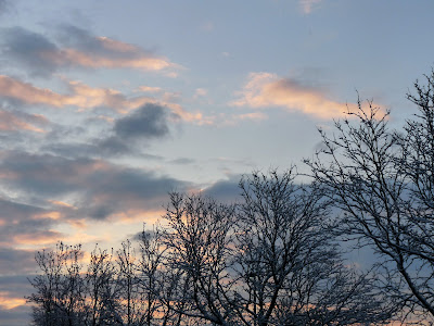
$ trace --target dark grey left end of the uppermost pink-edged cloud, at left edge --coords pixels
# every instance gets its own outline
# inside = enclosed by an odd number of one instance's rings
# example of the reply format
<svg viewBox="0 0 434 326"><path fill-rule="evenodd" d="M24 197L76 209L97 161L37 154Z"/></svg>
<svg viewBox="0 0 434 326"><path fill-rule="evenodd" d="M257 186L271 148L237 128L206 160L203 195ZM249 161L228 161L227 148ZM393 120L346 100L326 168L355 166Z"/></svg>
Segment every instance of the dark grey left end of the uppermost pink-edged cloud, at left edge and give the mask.
<svg viewBox="0 0 434 326"><path fill-rule="evenodd" d="M56 63L48 54L59 52L59 48L42 34L11 27L3 29L0 35L2 54L23 65L30 75L48 77L56 71Z"/></svg>

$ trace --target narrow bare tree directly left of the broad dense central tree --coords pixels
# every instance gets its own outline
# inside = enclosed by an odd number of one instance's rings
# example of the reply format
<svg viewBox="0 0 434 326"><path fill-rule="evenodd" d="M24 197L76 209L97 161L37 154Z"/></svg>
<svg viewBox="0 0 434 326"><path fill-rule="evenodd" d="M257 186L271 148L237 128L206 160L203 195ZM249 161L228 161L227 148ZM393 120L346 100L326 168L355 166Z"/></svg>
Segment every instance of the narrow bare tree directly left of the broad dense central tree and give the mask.
<svg viewBox="0 0 434 326"><path fill-rule="evenodd" d="M233 208L209 198L173 192L165 218L168 267L182 273L179 284L184 293L173 309L184 318L228 325L233 315L225 294L230 287L227 268Z"/></svg>

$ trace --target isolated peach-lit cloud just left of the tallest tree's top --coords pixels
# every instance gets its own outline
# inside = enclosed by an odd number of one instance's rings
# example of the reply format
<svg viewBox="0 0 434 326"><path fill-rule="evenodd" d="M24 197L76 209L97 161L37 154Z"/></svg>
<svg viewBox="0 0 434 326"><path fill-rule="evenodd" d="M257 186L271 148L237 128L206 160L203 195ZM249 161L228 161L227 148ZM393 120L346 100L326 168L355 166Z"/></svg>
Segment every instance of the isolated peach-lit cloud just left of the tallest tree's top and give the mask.
<svg viewBox="0 0 434 326"><path fill-rule="evenodd" d="M332 118L355 110L356 104L346 104L330 99L319 88L306 86L291 78L281 78L269 73L251 73L241 97L231 102L235 106L280 106L288 111L302 112L319 118Z"/></svg>

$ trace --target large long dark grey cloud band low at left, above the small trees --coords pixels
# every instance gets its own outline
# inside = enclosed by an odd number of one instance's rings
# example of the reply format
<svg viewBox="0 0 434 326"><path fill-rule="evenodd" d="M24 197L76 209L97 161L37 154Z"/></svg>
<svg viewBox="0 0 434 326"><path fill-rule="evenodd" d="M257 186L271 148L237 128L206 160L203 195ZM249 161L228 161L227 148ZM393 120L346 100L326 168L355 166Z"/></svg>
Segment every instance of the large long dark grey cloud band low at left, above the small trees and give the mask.
<svg viewBox="0 0 434 326"><path fill-rule="evenodd" d="M191 186L169 176L103 160L71 160L23 152L5 155L0 163L0 175L10 175L3 178L3 185L27 200L30 197L40 200L59 196L77 198L74 203L77 210L63 212L66 218L102 220L130 210L158 210L167 202L168 191Z"/></svg>

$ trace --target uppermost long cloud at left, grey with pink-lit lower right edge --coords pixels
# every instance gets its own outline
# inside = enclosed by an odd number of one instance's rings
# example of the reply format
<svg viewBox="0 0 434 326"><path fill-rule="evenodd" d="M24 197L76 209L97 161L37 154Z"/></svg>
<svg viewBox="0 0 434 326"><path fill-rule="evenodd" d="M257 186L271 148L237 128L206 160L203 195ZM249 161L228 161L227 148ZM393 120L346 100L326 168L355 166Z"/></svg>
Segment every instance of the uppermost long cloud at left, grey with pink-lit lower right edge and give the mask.
<svg viewBox="0 0 434 326"><path fill-rule="evenodd" d="M179 68L163 57L135 45L93 36L76 26L60 28L59 42L22 27L2 33L2 53L24 65L31 75L47 77L64 67L133 68L166 71Z"/></svg>

